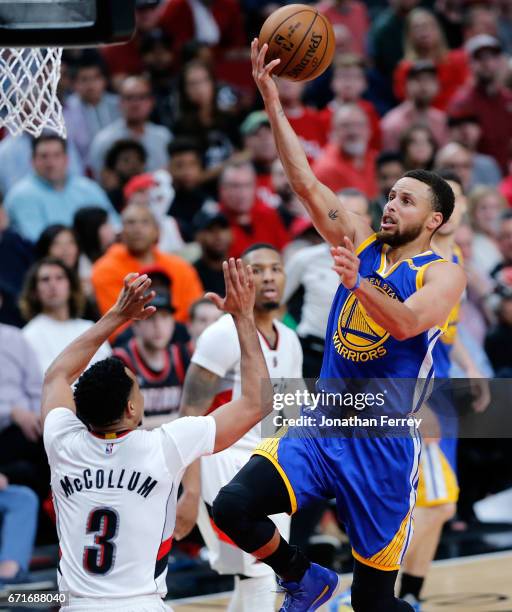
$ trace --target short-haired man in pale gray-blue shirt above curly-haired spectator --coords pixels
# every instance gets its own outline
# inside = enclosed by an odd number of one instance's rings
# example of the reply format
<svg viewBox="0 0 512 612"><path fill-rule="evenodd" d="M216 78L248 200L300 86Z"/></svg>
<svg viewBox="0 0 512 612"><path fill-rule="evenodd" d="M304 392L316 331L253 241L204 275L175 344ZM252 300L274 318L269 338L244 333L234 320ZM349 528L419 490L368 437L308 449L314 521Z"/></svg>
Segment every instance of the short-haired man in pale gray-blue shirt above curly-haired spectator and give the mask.
<svg viewBox="0 0 512 612"><path fill-rule="evenodd" d="M126 78L120 86L122 118L103 128L92 141L89 166L97 180L105 163L107 151L116 141L130 138L146 150L146 168L158 170L167 165L167 145L171 133L166 127L149 121L155 99L149 80L142 76Z"/></svg>

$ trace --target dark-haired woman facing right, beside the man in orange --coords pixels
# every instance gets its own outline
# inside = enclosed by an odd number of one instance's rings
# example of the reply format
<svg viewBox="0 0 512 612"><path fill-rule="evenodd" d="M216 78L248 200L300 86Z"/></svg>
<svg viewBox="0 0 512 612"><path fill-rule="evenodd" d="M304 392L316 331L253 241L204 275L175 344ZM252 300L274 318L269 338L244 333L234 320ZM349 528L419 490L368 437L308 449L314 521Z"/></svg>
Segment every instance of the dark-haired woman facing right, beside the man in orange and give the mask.
<svg viewBox="0 0 512 612"><path fill-rule="evenodd" d="M78 275L85 295L93 297L92 265L116 240L116 231L102 208L86 206L73 219L73 230L80 247Z"/></svg>

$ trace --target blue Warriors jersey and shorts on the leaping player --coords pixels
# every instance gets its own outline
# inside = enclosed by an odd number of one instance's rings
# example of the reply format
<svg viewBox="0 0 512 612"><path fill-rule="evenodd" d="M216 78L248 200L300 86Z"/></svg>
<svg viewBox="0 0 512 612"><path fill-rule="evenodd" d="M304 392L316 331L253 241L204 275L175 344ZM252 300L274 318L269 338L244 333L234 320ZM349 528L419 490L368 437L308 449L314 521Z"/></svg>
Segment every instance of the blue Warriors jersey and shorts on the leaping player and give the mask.
<svg viewBox="0 0 512 612"><path fill-rule="evenodd" d="M379 291L402 302L423 286L430 265L444 261L427 251L388 267L387 250L375 234L370 236L356 251L359 271ZM406 418L428 396L434 375L432 351L441 333L434 327L398 341L368 315L354 293L340 285L327 324L317 392L328 397L354 388L380 389L386 397L380 413ZM375 435L358 437L355 427L318 425L322 413L343 416L351 411L321 403L312 413L304 406L302 414L316 424L289 428L283 437L263 441L255 453L276 465L292 511L310 501L335 497L354 557L371 567L396 570L412 535L419 434L408 427L398 436L395 430L378 428Z"/></svg>

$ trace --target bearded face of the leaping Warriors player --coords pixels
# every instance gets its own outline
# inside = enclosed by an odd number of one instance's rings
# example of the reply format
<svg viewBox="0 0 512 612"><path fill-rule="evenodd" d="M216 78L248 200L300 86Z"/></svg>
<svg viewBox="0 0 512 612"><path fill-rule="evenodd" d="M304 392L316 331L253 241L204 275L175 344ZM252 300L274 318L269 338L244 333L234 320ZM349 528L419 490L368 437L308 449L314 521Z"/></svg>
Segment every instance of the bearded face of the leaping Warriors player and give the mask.
<svg viewBox="0 0 512 612"><path fill-rule="evenodd" d="M401 246L422 232L431 234L441 220L440 213L432 210L430 187L413 178L401 178L389 192L378 236L393 247Z"/></svg>

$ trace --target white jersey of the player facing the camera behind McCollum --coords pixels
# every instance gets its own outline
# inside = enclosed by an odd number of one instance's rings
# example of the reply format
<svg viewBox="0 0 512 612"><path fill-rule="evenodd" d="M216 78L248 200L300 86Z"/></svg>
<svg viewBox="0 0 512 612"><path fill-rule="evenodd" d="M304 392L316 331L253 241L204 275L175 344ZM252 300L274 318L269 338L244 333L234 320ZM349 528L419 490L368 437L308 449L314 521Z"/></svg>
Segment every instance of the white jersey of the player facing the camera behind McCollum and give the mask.
<svg viewBox="0 0 512 612"><path fill-rule="evenodd" d="M277 319L273 321L273 325L277 335L275 347L271 347L265 336L258 332L270 378L276 384L283 379L302 378L302 347L297 334ZM216 407L240 397L240 359L240 342L231 315L222 316L199 336L192 363L221 377L218 394L221 401L215 402ZM231 448L250 452L260 440L261 425L258 423Z"/></svg>

